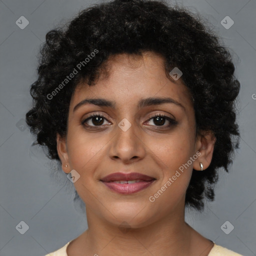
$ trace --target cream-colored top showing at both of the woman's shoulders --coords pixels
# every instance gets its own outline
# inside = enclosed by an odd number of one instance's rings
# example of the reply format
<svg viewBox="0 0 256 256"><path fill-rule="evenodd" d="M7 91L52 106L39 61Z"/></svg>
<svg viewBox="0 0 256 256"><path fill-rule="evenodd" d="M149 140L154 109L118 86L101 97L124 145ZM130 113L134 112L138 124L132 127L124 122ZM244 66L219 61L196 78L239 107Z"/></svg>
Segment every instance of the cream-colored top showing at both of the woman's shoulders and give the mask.
<svg viewBox="0 0 256 256"><path fill-rule="evenodd" d="M60 249L55 250L55 251L53 251L53 252L51 252L51 253L49 253L45 256L67 256L66 247L70 242L71 241L66 243ZM242 256L242 255L214 243L214 245L211 248L208 256Z"/></svg>

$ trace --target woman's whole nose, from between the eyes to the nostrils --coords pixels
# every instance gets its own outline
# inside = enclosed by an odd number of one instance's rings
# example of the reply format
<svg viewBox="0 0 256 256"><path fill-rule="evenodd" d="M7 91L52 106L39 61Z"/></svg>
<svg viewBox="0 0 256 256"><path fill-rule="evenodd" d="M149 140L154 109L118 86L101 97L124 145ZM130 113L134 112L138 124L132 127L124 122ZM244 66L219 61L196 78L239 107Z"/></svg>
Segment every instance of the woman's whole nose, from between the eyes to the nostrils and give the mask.
<svg viewBox="0 0 256 256"><path fill-rule="evenodd" d="M124 129L121 125L115 128L115 135L109 149L109 157L115 161L133 163L145 156L145 145L139 136L138 128L134 122L129 123L131 126L127 130L125 129L125 126L128 125L127 119Z"/></svg>

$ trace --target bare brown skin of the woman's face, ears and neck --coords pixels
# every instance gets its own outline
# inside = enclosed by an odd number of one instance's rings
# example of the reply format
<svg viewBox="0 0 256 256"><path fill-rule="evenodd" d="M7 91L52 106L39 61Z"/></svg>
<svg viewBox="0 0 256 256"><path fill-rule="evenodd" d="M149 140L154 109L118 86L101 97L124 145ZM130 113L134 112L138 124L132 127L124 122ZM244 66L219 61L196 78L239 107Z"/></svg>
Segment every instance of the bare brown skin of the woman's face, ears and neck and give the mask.
<svg viewBox="0 0 256 256"><path fill-rule="evenodd" d="M88 224L88 229L68 245L68 256L208 255L213 243L184 221L184 203L192 171L200 169L199 162L203 169L210 164L214 136L195 133L188 89L182 77L175 81L166 76L160 55L119 54L107 63L107 72L102 72L95 85L81 82L76 87L69 106L67 135L57 134L62 169L66 173L75 169L80 175L73 184L86 205ZM142 98L166 96L182 106L162 103L137 108ZM88 98L115 101L115 107L83 104L73 111ZM85 122L87 126L82 124L90 113L105 118L101 126L95 117ZM174 118L177 123L168 127L167 119L157 121L152 118L154 114ZM123 118L131 124L126 131L118 126ZM200 156L150 202L149 196L198 151ZM120 194L100 181L118 171L140 172L156 180L136 193Z"/></svg>

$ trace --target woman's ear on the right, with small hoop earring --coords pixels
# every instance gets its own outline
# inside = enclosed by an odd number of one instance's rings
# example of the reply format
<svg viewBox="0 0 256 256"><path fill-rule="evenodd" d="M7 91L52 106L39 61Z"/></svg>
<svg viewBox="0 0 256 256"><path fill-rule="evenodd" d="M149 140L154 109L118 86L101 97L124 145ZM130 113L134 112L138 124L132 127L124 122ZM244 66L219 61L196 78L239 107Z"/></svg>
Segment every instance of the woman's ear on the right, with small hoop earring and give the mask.
<svg viewBox="0 0 256 256"><path fill-rule="evenodd" d="M200 154L197 153L198 157L197 159L194 160L194 163L193 163L193 168L195 170L201 169L200 162L203 165L203 169L206 169L209 167L212 159L215 141L216 141L216 137L211 131L203 131L196 136L195 148L196 148L196 152L199 151Z"/></svg>

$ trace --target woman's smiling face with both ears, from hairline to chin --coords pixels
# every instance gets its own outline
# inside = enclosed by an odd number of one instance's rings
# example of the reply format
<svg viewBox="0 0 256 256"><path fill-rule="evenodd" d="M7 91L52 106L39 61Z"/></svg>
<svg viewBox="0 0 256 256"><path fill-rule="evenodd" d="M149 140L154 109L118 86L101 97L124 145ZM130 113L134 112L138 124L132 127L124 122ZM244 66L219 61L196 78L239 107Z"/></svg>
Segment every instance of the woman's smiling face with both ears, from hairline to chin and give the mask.
<svg viewBox="0 0 256 256"><path fill-rule="evenodd" d="M87 218L141 227L182 216L193 167L210 163L213 143L195 134L188 90L181 78L166 76L163 64L152 52L116 55L108 59L107 76L93 86L79 84L71 97L67 135L57 136L57 149L63 170L80 175L73 184ZM133 176L140 180L136 184L102 181L116 172L150 178Z"/></svg>

